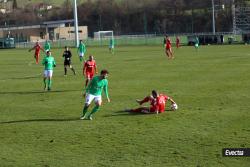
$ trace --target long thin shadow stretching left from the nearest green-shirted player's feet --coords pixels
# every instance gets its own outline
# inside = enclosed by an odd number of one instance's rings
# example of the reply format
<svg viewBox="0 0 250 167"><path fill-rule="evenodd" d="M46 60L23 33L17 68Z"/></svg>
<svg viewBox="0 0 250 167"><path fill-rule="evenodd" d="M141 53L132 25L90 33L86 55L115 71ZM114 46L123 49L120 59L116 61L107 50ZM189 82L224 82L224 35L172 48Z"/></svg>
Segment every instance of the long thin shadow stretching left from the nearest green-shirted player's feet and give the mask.
<svg viewBox="0 0 250 167"><path fill-rule="evenodd" d="M27 120L16 120L16 121L5 121L0 122L0 124L15 124L15 123L28 123L28 122L68 122L68 121L80 121L79 117L74 118L62 118L62 119L27 119Z"/></svg>

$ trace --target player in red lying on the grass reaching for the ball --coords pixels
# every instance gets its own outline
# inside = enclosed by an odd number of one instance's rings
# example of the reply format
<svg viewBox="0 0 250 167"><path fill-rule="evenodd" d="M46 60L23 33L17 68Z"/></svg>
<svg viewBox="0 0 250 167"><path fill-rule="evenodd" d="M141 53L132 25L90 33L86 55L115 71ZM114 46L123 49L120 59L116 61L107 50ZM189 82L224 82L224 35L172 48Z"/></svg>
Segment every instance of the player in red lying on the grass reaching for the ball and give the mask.
<svg viewBox="0 0 250 167"><path fill-rule="evenodd" d="M137 103L142 105L143 103L149 102L150 107L139 107L136 109L125 110L127 112L134 113L146 113L146 114L158 114L165 111L166 102L170 100L172 104L176 104L175 101L167 95L159 94L156 90L152 90L150 96L146 96L142 100L136 100Z"/></svg>

